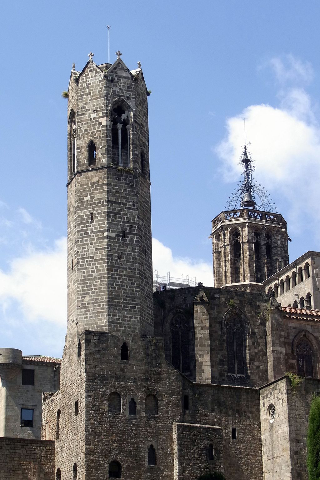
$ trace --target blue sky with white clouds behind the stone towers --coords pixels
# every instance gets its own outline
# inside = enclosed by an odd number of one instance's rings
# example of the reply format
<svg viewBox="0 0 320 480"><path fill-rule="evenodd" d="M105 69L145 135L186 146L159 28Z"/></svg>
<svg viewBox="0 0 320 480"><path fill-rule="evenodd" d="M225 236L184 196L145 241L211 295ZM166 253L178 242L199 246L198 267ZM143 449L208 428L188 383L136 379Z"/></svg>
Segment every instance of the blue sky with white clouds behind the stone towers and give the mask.
<svg viewBox="0 0 320 480"><path fill-rule="evenodd" d="M67 89L122 52L149 97L154 269L211 284L211 220L239 179L243 117L288 222L319 250L318 1L8 1L0 41L1 347L59 356L65 335ZM162 271L164 270L164 271Z"/></svg>

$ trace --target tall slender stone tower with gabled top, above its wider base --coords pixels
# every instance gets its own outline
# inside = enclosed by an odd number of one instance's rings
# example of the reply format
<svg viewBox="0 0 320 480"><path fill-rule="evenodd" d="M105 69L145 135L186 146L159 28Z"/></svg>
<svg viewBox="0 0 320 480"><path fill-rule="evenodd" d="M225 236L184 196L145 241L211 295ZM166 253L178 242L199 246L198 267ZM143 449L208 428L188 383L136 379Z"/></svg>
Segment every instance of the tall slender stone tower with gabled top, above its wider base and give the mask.
<svg viewBox="0 0 320 480"><path fill-rule="evenodd" d="M148 95L120 54L71 72L67 341L153 334Z"/></svg>

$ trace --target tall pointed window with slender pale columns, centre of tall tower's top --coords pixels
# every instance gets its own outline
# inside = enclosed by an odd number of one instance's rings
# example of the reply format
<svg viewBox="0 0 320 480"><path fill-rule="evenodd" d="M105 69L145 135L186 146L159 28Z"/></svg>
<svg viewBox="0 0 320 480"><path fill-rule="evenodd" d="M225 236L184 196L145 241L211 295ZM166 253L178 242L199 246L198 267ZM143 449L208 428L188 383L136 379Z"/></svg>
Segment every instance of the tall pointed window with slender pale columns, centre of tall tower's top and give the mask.
<svg viewBox="0 0 320 480"><path fill-rule="evenodd" d="M130 116L120 103L111 110L112 161L130 167Z"/></svg>

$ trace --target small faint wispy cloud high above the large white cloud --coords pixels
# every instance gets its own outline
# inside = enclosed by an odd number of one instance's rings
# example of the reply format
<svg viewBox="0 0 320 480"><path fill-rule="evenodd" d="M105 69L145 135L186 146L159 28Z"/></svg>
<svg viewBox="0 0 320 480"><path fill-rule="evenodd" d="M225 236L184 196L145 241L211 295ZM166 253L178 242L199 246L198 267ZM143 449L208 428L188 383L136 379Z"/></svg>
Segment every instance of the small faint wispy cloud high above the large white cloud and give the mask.
<svg viewBox="0 0 320 480"><path fill-rule="evenodd" d="M279 84L309 84L313 79L312 65L291 54L273 57L266 65L271 67Z"/></svg>

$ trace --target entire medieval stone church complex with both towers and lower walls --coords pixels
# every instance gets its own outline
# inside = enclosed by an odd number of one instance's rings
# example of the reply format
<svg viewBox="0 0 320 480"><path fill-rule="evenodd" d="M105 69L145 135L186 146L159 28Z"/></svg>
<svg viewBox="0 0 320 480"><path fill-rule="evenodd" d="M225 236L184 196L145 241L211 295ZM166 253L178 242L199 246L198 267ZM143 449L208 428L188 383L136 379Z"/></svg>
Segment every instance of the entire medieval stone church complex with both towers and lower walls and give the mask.
<svg viewBox="0 0 320 480"><path fill-rule="evenodd" d="M71 72L65 347L0 348L0 480L307 480L318 253L294 285L245 148L241 202L212 222L215 287L153 293L148 91L120 55ZM309 288L300 308L281 305L281 275L283 294Z"/></svg>

